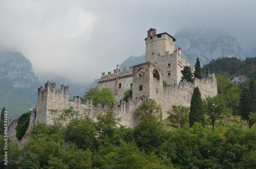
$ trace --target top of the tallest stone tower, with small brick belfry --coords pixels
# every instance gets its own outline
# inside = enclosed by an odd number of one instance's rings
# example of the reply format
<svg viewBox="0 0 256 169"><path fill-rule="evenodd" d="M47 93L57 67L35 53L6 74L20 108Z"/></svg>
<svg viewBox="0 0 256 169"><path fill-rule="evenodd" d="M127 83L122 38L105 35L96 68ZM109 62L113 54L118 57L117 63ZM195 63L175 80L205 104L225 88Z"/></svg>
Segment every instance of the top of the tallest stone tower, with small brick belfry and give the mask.
<svg viewBox="0 0 256 169"><path fill-rule="evenodd" d="M168 33L156 34L156 29L151 28L147 31L146 41L146 62L155 64L157 53L161 52L162 55L166 51L173 53L175 50L175 39Z"/></svg>

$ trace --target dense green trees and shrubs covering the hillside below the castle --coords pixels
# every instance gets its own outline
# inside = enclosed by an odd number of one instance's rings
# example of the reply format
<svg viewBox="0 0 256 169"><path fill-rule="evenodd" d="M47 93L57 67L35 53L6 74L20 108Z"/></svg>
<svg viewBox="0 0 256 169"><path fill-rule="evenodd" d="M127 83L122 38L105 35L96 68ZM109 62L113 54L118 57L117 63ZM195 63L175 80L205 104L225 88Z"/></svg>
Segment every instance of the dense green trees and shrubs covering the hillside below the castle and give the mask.
<svg viewBox="0 0 256 169"><path fill-rule="evenodd" d="M222 95L207 97L204 100L205 110L216 111L216 107L220 108L221 105L216 100L224 102L224 106L228 105L228 101ZM218 105L213 106L215 104ZM173 106L169 112L171 111L188 119L188 107ZM58 116L60 125L47 126L38 123L34 126L29 134L31 139L25 144L24 149L19 150L17 144L8 145L8 167L25 169L252 169L255 167L256 127L253 125L248 129L248 125L245 124L244 128L238 117L229 117L225 120L216 117L216 128L209 131L208 126L204 127L198 122L191 127L184 125L183 128L162 125L159 120L162 117L162 107L153 99L146 99L138 106L136 112L138 125L131 129L119 124L120 119L116 117L113 109L95 115L91 114L90 109L83 112L74 111L72 107L65 109ZM26 114L28 113L24 113L23 116ZM250 118L256 119L256 114L252 113L251 116ZM69 123L66 123L67 117L70 119ZM97 122L89 117L96 118ZM176 120L176 123L179 120ZM3 146L4 140L0 137L0 149L3 149ZM3 155L0 153L1 161ZM17 161L20 161L20 164L17 164ZM0 167L3 168L3 165Z"/></svg>

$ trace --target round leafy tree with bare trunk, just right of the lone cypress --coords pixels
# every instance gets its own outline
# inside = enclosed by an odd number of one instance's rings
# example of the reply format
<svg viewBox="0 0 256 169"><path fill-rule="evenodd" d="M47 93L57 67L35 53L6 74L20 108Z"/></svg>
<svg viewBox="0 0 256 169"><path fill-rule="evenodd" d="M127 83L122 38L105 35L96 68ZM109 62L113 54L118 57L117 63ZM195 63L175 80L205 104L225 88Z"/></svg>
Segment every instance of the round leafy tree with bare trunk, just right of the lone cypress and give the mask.
<svg viewBox="0 0 256 169"><path fill-rule="evenodd" d="M232 109L228 108L228 101L222 96L208 96L203 100L205 114L209 116L212 122L212 130L214 130L214 122L217 119L223 119L232 113Z"/></svg>

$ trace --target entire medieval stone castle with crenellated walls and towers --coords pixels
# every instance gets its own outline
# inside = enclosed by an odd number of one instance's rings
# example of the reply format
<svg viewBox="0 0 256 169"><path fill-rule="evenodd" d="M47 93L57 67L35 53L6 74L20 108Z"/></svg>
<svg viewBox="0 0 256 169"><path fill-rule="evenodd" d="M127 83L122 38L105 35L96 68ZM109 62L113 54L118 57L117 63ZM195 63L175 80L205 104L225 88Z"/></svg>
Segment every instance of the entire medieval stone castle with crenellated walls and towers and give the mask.
<svg viewBox="0 0 256 169"><path fill-rule="evenodd" d="M194 83L180 82L181 70L189 63L181 57L181 48L175 50L175 38L168 33L156 34L156 29L147 31L146 41L146 63L131 66L129 70L123 68L123 71L117 65L114 73L102 73L98 82L98 87L109 87L116 98L120 100L118 104L113 104L115 112L121 118L121 124L134 128L137 126L137 115L135 108L143 102L144 98L152 98L163 107L163 118L167 118L165 111L169 110L172 105L190 106L191 96L194 87L198 86L202 98L205 96L217 95L217 80L214 74L208 78L194 78ZM163 87L163 80L167 86ZM50 109L56 110L59 114L63 109L73 107L74 110L83 112L84 109L91 109L91 118L95 119L95 114L103 109L109 108L108 105L101 104L93 106L93 100L81 102L81 97L74 96L69 98L69 86L61 85L61 89L56 89L55 83L49 81L45 83L44 88L41 86L37 91L37 108L31 112L30 125L28 131L37 122L43 122L47 125L54 125L54 116L50 114ZM132 100L128 102L121 101L125 90L132 87ZM18 119L13 120L9 126L9 136L13 141L22 146L26 142L26 137L18 141L15 137L15 127ZM28 132L27 131L27 132Z"/></svg>

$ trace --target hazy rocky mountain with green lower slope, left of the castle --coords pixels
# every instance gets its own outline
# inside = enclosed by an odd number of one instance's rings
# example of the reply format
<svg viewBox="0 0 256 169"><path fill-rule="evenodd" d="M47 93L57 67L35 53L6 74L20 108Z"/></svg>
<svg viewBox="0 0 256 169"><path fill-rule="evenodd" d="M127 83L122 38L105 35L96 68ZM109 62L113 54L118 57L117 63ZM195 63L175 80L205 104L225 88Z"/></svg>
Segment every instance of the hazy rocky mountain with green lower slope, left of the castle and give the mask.
<svg viewBox="0 0 256 169"><path fill-rule="evenodd" d="M36 107L40 87L31 62L20 52L0 52L0 108L16 119Z"/></svg>

